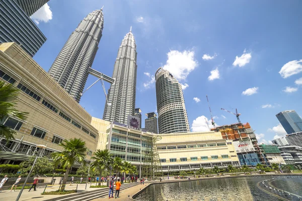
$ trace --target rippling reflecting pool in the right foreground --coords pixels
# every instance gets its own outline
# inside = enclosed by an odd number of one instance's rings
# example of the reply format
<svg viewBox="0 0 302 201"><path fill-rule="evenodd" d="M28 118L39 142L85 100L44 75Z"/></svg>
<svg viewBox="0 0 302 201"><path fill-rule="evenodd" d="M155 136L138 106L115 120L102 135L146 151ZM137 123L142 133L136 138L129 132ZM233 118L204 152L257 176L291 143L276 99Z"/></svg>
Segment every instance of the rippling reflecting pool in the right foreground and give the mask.
<svg viewBox="0 0 302 201"><path fill-rule="evenodd" d="M159 183L146 187L145 190L134 198L142 201L302 200L302 177L222 177L216 179Z"/></svg>

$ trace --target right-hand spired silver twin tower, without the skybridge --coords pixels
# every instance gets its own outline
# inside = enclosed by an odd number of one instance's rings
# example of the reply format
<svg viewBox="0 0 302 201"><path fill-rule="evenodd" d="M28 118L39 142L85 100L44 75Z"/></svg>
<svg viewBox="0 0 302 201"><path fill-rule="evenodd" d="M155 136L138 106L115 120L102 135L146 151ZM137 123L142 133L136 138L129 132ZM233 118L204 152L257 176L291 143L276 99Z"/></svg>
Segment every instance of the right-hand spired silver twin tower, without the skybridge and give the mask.
<svg viewBox="0 0 302 201"><path fill-rule="evenodd" d="M111 84L105 103L103 120L127 124L134 114L136 90L136 44L131 32L126 34L118 49Z"/></svg>

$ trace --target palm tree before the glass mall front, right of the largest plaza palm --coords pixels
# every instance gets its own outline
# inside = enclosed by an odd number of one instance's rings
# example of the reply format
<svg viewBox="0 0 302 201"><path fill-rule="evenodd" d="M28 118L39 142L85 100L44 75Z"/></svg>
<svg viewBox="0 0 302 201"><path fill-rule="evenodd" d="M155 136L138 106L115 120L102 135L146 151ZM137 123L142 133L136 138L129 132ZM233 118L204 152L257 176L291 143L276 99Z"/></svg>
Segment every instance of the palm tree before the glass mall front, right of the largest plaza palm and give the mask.
<svg viewBox="0 0 302 201"><path fill-rule="evenodd" d="M97 149L94 153L94 156L91 157L93 159L93 163L91 164L91 167L93 169L98 169L100 171L99 181L101 181L102 178L102 171L106 168L109 168L112 164L112 158L110 156L110 152L108 149L100 150ZM99 182L99 185L101 185L101 182Z"/></svg>

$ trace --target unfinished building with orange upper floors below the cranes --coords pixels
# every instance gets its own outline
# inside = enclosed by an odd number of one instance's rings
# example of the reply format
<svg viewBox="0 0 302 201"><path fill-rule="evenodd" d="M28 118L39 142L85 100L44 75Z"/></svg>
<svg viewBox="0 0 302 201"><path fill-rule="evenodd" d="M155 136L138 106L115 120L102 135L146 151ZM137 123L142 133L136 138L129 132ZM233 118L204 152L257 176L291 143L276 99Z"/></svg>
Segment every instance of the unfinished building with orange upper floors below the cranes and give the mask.
<svg viewBox="0 0 302 201"><path fill-rule="evenodd" d="M223 139L233 140L241 165L255 166L257 163L266 164L258 146L256 135L249 123L235 123L218 126L211 131L220 132ZM236 143L238 141L238 143ZM253 147L249 147L251 144ZM256 155L257 158L256 159Z"/></svg>

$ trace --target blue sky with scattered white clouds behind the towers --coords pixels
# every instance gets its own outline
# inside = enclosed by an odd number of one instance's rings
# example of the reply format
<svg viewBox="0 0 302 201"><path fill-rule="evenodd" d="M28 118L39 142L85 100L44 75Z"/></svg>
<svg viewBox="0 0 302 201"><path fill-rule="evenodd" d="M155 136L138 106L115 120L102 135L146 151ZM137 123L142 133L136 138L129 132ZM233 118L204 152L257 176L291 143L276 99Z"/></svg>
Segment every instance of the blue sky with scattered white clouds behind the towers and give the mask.
<svg viewBox="0 0 302 201"><path fill-rule="evenodd" d="M275 115L302 116L301 1L93 1L50 0L32 18L47 37L34 59L48 71L71 32L104 5L104 29L93 68L112 75L119 45L132 26L137 45L136 107L156 111L153 75L170 70L184 86L191 131L210 122L249 122L259 142L284 136ZM89 76L86 87L96 77ZM109 84L105 83L106 90ZM101 83L80 104L102 118ZM142 121L144 122L144 121ZM144 123L143 123L144 126Z"/></svg>

